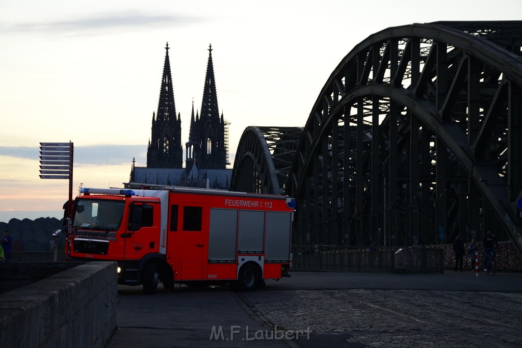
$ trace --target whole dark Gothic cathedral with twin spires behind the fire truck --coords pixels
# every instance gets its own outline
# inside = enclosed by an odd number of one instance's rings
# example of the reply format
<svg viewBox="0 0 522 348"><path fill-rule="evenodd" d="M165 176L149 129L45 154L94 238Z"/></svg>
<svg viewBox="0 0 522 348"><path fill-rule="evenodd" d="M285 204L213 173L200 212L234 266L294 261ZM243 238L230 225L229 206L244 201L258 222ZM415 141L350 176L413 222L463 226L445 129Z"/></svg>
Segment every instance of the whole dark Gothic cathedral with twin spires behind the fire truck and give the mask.
<svg viewBox="0 0 522 348"><path fill-rule="evenodd" d="M181 114L176 114L169 44L165 47L157 113L152 114L151 139L147 148L147 166L136 166L133 160L130 181L133 183L230 188L231 169L228 161L228 123L219 114L216 82L209 46L207 73L201 101L201 114L194 114L185 143L185 168L181 146Z"/></svg>

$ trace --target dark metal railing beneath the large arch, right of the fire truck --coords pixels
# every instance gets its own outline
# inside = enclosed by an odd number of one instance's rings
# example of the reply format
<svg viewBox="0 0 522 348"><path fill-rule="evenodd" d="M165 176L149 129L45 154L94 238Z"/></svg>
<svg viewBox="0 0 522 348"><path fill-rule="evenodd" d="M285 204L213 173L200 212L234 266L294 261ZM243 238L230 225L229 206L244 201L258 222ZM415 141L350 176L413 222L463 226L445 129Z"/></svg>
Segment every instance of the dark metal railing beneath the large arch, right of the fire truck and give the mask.
<svg viewBox="0 0 522 348"><path fill-rule="evenodd" d="M292 269L344 272L443 273L441 249L419 247L293 245Z"/></svg>

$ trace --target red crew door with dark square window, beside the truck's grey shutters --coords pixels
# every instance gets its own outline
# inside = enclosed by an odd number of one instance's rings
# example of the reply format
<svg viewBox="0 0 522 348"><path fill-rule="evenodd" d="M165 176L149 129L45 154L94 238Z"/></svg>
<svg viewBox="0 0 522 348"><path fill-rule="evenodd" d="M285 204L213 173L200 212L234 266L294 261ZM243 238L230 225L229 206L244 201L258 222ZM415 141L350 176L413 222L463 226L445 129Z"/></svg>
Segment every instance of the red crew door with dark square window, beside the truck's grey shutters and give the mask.
<svg viewBox="0 0 522 348"><path fill-rule="evenodd" d="M204 207L198 203L181 205L182 227L180 231L181 278L183 280L203 279L203 260L208 245L205 243L206 222Z"/></svg>

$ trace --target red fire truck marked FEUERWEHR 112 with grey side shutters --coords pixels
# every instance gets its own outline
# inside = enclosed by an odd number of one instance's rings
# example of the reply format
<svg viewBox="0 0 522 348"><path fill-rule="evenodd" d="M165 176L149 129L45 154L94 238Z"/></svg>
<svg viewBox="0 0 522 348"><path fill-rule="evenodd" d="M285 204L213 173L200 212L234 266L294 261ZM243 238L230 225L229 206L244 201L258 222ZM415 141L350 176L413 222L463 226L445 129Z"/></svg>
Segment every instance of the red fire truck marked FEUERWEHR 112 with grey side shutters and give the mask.
<svg viewBox="0 0 522 348"><path fill-rule="evenodd" d="M82 188L71 260L118 263L118 284L146 294L175 283L250 291L289 277L295 201L282 195L152 186Z"/></svg>

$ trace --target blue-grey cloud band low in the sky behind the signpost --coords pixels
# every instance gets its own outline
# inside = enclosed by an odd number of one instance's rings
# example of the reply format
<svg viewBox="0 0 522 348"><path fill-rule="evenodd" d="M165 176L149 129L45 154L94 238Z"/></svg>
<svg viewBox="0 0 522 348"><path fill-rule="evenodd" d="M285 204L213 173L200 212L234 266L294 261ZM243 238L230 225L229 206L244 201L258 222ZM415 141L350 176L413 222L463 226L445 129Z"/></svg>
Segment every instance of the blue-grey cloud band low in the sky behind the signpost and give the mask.
<svg viewBox="0 0 522 348"><path fill-rule="evenodd" d="M0 155L39 160L38 147L28 146L0 146ZM144 145L91 145L74 147L74 164L111 164L120 165L147 162L147 146Z"/></svg>

